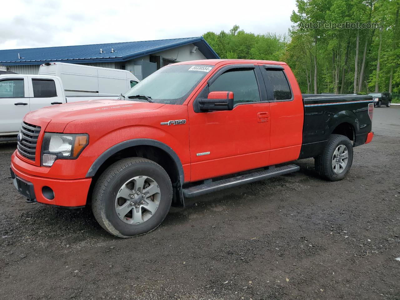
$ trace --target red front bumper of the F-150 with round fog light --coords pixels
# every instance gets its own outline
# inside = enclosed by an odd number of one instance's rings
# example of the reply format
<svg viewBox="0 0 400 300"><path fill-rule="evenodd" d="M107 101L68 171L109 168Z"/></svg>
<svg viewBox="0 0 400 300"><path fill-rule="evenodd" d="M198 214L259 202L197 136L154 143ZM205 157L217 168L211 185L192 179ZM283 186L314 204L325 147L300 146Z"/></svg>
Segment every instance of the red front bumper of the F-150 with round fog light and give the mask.
<svg viewBox="0 0 400 300"><path fill-rule="evenodd" d="M16 157L13 156L13 158ZM17 170L13 159L11 160L11 171L18 192L30 199L31 202L64 207L86 205L92 178L62 180L33 176ZM49 188L53 192L53 196L49 196Z"/></svg>

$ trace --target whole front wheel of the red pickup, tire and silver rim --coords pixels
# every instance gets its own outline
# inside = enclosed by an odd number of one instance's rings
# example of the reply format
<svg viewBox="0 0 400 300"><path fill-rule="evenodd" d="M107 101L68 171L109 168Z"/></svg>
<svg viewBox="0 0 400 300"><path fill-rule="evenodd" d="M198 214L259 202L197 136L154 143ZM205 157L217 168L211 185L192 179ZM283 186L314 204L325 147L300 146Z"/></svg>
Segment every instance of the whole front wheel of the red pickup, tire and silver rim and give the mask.
<svg viewBox="0 0 400 300"><path fill-rule="evenodd" d="M129 238L157 228L171 201L171 180L159 164L125 158L108 167L96 182L92 210L106 231Z"/></svg>

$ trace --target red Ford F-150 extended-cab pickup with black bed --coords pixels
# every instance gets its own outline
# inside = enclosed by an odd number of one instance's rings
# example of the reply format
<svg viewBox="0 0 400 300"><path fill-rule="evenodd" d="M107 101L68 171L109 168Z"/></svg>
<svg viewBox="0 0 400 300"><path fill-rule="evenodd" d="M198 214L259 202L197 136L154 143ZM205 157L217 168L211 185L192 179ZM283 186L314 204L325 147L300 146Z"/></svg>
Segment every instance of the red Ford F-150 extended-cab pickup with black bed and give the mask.
<svg viewBox="0 0 400 300"><path fill-rule="evenodd" d="M284 62L180 62L120 99L27 114L11 176L27 201L91 205L126 238L186 197L295 172L297 159L341 180L353 147L372 140L373 106L371 96L302 95Z"/></svg>

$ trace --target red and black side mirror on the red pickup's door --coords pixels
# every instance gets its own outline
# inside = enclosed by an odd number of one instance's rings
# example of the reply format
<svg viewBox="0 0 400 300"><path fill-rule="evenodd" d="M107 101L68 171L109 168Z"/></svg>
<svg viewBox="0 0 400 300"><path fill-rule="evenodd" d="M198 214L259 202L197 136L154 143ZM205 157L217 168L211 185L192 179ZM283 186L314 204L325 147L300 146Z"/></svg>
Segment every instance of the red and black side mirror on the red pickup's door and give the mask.
<svg viewBox="0 0 400 300"><path fill-rule="evenodd" d="M198 98L194 104L196 112L232 110L233 92L210 92L207 98Z"/></svg>

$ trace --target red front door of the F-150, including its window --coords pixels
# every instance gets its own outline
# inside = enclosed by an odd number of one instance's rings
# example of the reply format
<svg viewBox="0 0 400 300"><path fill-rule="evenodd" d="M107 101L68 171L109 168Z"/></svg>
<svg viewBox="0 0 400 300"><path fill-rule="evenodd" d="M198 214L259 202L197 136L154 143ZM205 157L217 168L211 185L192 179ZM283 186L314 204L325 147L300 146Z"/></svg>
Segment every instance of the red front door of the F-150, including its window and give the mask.
<svg viewBox="0 0 400 300"><path fill-rule="evenodd" d="M188 105L192 182L268 165L270 107L260 68L224 69L198 97L233 92L233 110L196 113Z"/></svg>

